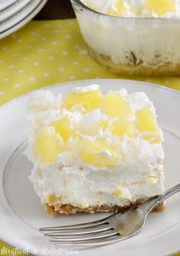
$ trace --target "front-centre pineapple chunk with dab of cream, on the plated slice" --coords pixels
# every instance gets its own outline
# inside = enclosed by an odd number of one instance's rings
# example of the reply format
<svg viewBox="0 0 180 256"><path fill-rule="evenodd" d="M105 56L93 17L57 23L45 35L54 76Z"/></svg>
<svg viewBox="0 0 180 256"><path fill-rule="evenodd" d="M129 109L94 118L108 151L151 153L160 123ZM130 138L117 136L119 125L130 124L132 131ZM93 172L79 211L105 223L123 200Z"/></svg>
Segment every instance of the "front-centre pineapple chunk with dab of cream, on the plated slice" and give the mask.
<svg viewBox="0 0 180 256"><path fill-rule="evenodd" d="M103 167L115 166L120 156L104 141L84 138L82 139L80 157L89 165Z"/></svg>

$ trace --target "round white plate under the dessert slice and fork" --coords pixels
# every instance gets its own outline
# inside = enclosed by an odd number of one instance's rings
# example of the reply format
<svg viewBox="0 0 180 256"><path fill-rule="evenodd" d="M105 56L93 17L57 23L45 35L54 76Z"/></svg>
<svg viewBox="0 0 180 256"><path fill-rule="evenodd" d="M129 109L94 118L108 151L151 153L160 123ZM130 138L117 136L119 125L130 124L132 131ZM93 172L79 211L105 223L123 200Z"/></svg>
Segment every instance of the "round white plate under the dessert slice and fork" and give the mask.
<svg viewBox="0 0 180 256"><path fill-rule="evenodd" d="M165 87L133 80L84 80L56 84L46 87L46 90L58 94L71 90L72 86L95 83L101 85L103 92L125 87L129 92L144 91L153 100L166 139L166 188L177 184L180 181L180 94ZM0 107L0 238L24 250L28 248L32 254L45 254L44 250L50 249L54 255L59 247L50 244L38 228L93 221L107 214L47 217L33 185L27 179L32 164L22 154L26 148L26 106L29 95L18 97ZM149 215L145 228L135 237L105 247L81 249L79 255L108 256L121 253L127 256L160 256L180 250L179 199L180 195L174 195L167 201L164 212Z"/></svg>

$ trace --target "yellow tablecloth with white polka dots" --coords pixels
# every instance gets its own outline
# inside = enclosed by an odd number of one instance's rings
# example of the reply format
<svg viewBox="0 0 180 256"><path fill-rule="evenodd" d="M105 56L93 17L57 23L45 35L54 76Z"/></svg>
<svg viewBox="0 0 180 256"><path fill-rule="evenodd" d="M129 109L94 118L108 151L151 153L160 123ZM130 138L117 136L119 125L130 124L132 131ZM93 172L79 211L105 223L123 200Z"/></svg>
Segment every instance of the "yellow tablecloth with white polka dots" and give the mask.
<svg viewBox="0 0 180 256"><path fill-rule="evenodd" d="M136 79L180 90L180 77L120 77L104 70L88 56L76 19L31 21L0 41L0 104L40 87L92 78ZM0 241L2 248L15 255Z"/></svg>

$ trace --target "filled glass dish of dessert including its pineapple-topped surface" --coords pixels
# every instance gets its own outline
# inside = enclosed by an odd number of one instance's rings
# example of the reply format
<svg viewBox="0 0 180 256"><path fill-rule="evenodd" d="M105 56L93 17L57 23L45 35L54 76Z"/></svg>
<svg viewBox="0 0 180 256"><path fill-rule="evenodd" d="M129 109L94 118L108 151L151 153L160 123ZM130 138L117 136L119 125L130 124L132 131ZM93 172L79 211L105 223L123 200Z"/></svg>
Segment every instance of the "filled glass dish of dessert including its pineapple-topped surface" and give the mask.
<svg viewBox="0 0 180 256"><path fill-rule="evenodd" d="M71 0L90 56L109 71L180 75L180 0Z"/></svg>

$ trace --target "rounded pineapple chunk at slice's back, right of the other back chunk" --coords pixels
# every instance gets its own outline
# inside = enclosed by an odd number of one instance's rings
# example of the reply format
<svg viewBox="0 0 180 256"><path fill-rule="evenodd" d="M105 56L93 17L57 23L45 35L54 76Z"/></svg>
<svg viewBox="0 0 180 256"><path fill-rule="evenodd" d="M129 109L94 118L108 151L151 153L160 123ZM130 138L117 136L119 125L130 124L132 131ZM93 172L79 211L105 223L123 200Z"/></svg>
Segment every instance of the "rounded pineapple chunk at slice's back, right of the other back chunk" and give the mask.
<svg viewBox="0 0 180 256"><path fill-rule="evenodd" d="M109 91L101 97L100 109L112 117L128 117L130 107L126 100L114 91Z"/></svg>

